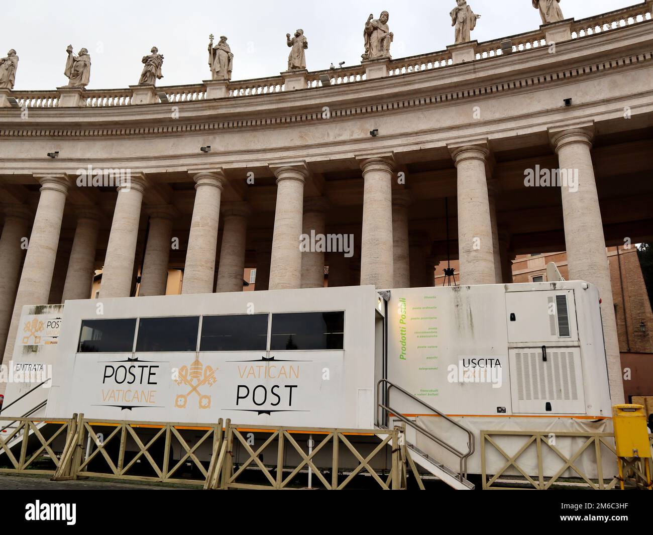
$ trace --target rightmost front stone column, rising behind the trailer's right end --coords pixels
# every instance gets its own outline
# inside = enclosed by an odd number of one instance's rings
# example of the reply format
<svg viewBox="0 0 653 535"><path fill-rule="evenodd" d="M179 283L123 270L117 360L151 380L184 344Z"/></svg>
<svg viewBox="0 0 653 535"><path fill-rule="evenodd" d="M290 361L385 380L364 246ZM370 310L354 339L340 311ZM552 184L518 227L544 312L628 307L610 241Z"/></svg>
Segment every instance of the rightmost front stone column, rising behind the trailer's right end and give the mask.
<svg viewBox="0 0 653 535"><path fill-rule="evenodd" d="M550 129L549 135L558 154L560 169L567 170L567 175L574 177L568 186L560 187L569 280L584 280L596 285L599 290L610 395L613 405L623 403L624 385L610 267L605 252L603 221L590 153L594 124Z"/></svg>

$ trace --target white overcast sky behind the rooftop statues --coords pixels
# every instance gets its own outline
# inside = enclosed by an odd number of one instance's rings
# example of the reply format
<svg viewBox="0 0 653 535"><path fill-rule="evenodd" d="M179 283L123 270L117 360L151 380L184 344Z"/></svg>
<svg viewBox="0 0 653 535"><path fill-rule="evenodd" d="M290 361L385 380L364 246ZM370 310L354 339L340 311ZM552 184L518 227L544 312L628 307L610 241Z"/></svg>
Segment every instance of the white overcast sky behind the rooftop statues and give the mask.
<svg viewBox="0 0 653 535"><path fill-rule="evenodd" d="M472 39L488 41L536 29L532 0L469 0L482 17ZM639 0L562 0L565 17L581 19ZM54 89L63 75L66 47L88 48L89 89L126 88L138 82L140 59L157 46L165 57L159 85L199 84L210 78L208 35L226 35L234 53L233 80L285 71L286 33L304 29L310 71L330 63L360 63L362 29L370 13L390 13L392 57L443 50L453 43L449 11L455 0L53 0L3 2L1 56L15 48L20 63L14 89ZM0 57L1 57L0 56Z"/></svg>

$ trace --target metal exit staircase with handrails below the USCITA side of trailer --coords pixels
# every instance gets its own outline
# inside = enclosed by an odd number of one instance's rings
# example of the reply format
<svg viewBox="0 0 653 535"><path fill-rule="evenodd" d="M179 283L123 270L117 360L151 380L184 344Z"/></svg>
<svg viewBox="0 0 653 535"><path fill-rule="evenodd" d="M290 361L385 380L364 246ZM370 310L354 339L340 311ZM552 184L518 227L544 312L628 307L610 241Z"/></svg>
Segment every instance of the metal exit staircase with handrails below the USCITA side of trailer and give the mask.
<svg viewBox="0 0 653 535"><path fill-rule="evenodd" d="M392 408L392 406L390 406L390 392L392 390L396 390L402 393L403 395L405 395L406 397L411 398L412 400L418 402L419 404L427 408L430 412L439 415L440 417L449 421L454 426L466 432L468 436L467 451L466 452L459 451L456 447L452 446L451 444L448 444L444 440L441 440L441 438L438 438L438 436L434 435L432 432L430 432L430 430L426 429L426 427L419 425L419 423L417 423L416 421L412 421L411 419L407 418L405 415L400 413L398 410ZM377 417L376 427L378 427L379 429L388 429L387 425L389 422L389 418L392 417L402 421L406 425L409 425L417 432L421 433L423 436L426 436L426 438L432 440L432 442L434 442L435 444L438 444L438 446L441 446L447 451L453 453L453 455L458 457L458 459L460 460L457 472L456 470L453 470L453 468L450 468L449 466L443 464L442 462L433 459L433 457L430 457L430 455L428 455L427 453L419 449L417 446L406 442L406 448L410 451L411 458L413 459L413 461L415 461L415 464L419 464L419 466L424 468L424 470L427 470L428 472L430 472L430 474L433 474L437 478L441 479L441 481L447 483L447 485L449 485L453 489L462 490L462 491L470 491L474 489L475 485L471 483L471 481L468 481L468 479L466 479L467 460L475 451L474 435L469 429L464 427L464 425L458 423L454 419L451 419L446 414L439 412L438 409L430 406L428 403L412 395L408 391L404 390L402 387L395 385L394 383L391 383L387 379L381 379L377 383L376 417Z"/></svg>

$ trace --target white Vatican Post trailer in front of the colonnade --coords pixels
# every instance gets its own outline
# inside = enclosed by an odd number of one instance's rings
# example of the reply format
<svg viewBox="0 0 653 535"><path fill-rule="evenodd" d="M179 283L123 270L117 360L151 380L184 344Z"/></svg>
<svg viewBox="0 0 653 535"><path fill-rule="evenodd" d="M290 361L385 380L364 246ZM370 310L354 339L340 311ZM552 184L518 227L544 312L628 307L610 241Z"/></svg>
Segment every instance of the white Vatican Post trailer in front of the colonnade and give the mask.
<svg viewBox="0 0 653 535"><path fill-rule="evenodd" d="M415 453L454 468L459 456L429 433L465 452L467 430L476 443L481 430L611 430L599 295L585 282L76 300L61 312L24 309L22 324L59 318L58 332L37 349L18 336L14 366L51 364L52 381L11 415L46 393L48 418L400 420ZM5 406L33 386L10 384ZM479 452L467 463L479 473Z"/></svg>

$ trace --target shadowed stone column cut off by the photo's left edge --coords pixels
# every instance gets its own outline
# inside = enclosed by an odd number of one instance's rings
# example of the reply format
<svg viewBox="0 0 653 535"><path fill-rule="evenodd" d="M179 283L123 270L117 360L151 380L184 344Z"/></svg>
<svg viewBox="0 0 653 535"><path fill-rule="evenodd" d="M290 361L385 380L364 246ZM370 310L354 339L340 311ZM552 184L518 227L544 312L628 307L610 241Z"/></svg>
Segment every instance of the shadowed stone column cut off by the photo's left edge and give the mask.
<svg viewBox="0 0 653 535"><path fill-rule="evenodd" d="M18 274L23 261L27 230L32 214L21 204L5 206L5 225L0 236L0 349L4 351L11 313L18 289Z"/></svg>

